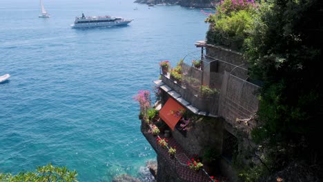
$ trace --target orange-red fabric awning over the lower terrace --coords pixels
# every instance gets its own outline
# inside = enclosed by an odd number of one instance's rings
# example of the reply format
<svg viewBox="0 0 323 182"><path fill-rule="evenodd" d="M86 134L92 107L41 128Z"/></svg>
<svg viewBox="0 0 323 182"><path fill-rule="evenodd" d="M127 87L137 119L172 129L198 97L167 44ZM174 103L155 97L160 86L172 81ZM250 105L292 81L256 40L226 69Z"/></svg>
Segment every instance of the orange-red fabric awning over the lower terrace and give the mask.
<svg viewBox="0 0 323 182"><path fill-rule="evenodd" d="M170 129L174 130L175 125L181 119L185 108L177 103L173 98L169 98L165 105L159 111L159 117L164 120Z"/></svg>

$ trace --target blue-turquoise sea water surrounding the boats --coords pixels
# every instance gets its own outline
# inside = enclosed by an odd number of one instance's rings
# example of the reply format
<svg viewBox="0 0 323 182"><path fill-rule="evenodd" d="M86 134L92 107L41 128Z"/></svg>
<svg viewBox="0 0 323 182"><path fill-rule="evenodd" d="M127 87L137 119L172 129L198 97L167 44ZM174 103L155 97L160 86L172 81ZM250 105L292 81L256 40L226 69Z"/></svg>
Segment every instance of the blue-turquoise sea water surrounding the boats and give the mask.
<svg viewBox="0 0 323 182"><path fill-rule="evenodd" d="M155 152L133 96L150 89L159 61L175 65L208 25L200 10L133 0L0 1L0 172L66 165L79 181L128 173L149 181ZM135 7L138 10L133 10ZM81 12L135 19L119 28L72 29Z"/></svg>

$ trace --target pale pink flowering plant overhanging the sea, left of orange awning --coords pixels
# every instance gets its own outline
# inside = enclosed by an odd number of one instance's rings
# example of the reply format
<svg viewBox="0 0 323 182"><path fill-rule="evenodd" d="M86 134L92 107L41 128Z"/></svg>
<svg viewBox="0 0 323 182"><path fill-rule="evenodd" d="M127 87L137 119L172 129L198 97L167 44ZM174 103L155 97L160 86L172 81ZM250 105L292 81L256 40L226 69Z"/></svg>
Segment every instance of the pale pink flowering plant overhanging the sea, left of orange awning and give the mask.
<svg viewBox="0 0 323 182"><path fill-rule="evenodd" d="M148 110L153 108L151 105L150 91L149 90L139 90L138 94L133 97L135 101L139 102L140 114L144 119L148 119Z"/></svg>

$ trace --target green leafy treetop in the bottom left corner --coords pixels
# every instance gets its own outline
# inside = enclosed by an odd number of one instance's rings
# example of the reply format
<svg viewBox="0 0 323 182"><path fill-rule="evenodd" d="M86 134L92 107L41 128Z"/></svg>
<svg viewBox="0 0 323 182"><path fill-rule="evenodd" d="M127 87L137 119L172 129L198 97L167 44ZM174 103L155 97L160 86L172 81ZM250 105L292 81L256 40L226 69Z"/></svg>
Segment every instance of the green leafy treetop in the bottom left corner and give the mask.
<svg viewBox="0 0 323 182"><path fill-rule="evenodd" d="M17 175L10 173L0 174L0 181L2 182L21 182L21 181L61 181L72 182L77 181L77 172L70 171L66 167L55 167L50 163L45 166L37 167L36 172L19 172Z"/></svg>

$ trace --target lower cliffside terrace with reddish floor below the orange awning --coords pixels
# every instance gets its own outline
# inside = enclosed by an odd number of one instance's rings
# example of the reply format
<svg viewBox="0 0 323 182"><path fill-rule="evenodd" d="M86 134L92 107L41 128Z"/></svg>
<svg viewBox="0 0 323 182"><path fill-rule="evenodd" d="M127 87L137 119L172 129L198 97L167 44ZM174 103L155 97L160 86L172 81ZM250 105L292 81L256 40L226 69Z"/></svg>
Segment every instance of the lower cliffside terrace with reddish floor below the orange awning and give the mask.
<svg viewBox="0 0 323 182"><path fill-rule="evenodd" d="M194 157L192 154L188 154L184 149L175 141L173 137L166 138L168 146L166 148L163 148L157 144L157 139L164 139L164 134L157 134L154 136L153 128L148 125L144 120L141 120L141 132L146 137L147 141L150 143L150 145L153 147L157 155L159 156L159 159L163 160L164 163L166 163L166 168L168 168L169 172L173 173L173 176L176 176L176 181L188 181L188 182L224 182L228 181L226 178L222 176L217 176L216 174L214 176L211 176L208 174L203 168L195 171L189 168L188 161ZM169 147L176 147L176 154L174 157L171 157L168 154ZM158 167L159 168L159 167ZM159 178L162 178L159 174L157 176L157 181L159 181Z"/></svg>

